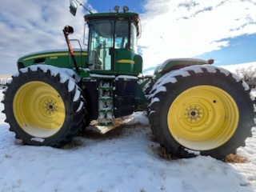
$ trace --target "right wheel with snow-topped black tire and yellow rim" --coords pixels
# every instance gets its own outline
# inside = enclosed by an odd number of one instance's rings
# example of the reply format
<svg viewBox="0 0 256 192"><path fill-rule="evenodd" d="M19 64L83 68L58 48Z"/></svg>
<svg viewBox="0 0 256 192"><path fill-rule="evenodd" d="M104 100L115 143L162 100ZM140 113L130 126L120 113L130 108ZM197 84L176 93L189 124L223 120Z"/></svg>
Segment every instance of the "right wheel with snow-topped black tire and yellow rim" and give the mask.
<svg viewBox="0 0 256 192"><path fill-rule="evenodd" d="M227 70L207 65L172 71L155 83L150 99L151 129L170 154L223 159L252 136L254 97Z"/></svg>

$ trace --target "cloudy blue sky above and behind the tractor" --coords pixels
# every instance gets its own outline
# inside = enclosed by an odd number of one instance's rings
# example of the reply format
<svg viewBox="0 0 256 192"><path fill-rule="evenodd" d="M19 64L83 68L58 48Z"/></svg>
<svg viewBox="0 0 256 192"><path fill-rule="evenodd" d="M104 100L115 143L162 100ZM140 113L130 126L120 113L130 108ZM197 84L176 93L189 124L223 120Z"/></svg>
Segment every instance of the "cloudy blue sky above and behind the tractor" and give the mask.
<svg viewBox="0 0 256 192"><path fill-rule="evenodd" d="M80 0L93 12L118 5L138 12L142 38L138 47L143 69L169 58L214 58L215 65L255 62L256 2L254 0ZM65 49L63 26L74 27L82 41L83 14L69 13L69 0L0 0L0 74L15 74L24 54ZM82 47L86 48L86 47Z"/></svg>

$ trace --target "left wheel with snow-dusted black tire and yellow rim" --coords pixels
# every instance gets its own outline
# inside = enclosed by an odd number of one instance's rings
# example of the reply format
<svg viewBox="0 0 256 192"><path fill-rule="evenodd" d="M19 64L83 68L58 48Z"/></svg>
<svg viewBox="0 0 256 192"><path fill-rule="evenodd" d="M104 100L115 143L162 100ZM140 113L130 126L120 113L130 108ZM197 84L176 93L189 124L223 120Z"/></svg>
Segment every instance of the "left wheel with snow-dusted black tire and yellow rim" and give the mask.
<svg viewBox="0 0 256 192"><path fill-rule="evenodd" d="M65 72L31 66L13 76L3 92L3 112L16 138L28 145L59 147L82 129L86 101L74 78Z"/></svg>

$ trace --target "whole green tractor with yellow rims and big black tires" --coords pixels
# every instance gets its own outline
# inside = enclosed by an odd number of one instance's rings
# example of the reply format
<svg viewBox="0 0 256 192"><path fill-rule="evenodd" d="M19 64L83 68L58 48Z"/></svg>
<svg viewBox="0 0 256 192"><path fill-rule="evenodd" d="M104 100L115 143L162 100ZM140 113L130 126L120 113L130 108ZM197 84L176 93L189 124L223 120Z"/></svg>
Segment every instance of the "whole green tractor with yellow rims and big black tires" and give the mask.
<svg viewBox="0 0 256 192"><path fill-rule="evenodd" d="M70 2L75 14L77 4ZM138 14L124 6L84 16L87 50L46 51L18 59L18 74L2 100L6 122L28 145L59 147L92 120L111 126L115 118L146 110L160 145L180 157L235 154L251 137L254 97L237 75L213 60L169 59L154 75L142 76L137 52Z"/></svg>

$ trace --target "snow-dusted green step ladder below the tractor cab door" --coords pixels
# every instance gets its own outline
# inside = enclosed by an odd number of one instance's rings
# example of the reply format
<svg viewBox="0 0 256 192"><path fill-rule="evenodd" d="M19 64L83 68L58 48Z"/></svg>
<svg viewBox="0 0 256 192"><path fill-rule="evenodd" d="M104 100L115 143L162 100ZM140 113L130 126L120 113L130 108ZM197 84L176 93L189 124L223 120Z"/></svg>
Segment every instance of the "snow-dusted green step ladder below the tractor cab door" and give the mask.
<svg viewBox="0 0 256 192"><path fill-rule="evenodd" d="M114 124L113 90L113 79L101 79L98 81L99 126L113 126Z"/></svg>

